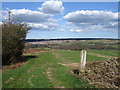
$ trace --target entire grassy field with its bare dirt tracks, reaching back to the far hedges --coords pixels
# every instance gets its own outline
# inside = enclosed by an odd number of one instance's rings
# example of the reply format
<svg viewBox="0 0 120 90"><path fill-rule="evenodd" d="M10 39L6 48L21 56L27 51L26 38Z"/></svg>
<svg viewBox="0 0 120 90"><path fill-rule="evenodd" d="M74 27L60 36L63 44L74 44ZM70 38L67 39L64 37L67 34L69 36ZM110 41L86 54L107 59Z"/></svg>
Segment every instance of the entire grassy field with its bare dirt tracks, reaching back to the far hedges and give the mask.
<svg viewBox="0 0 120 90"><path fill-rule="evenodd" d="M87 41L84 44L88 42L91 46L97 41L92 41L92 44L91 41ZM25 53L24 57L28 57L27 60L20 66L16 63L15 69L4 66L3 88L94 88L86 79L71 73L71 70L79 69L80 50L61 48L60 45L70 46L72 44L73 42L64 42L56 44L54 48L52 45L37 47L34 48L34 52ZM114 49L86 49L87 63L117 57L117 47L112 45L113 43L109 44L115 47Z"/></svg>

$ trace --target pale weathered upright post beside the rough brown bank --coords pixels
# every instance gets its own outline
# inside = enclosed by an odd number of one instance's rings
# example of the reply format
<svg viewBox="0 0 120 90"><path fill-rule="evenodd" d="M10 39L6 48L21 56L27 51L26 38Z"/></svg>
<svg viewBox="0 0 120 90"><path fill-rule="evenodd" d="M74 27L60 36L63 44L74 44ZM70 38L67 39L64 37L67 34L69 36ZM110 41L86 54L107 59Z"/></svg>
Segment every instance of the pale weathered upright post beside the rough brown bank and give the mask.
<svg viewBox="0 0 120 90"><path fill-rule="evenodd" d="M84 72L86 65L86 50L82 50L80 54L80 71Z"/></svg>

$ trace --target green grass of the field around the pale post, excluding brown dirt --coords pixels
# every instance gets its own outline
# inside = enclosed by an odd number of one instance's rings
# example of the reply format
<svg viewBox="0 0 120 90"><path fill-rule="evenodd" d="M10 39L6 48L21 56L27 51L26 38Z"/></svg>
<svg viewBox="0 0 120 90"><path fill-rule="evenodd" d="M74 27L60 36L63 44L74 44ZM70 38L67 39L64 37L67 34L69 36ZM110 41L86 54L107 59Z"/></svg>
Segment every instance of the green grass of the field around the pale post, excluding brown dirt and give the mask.
<svg viewBox="0 0 120 90"><path fill-rule="evenodd" d="M102 51L89 51L116 56ZM106 60L105 58L87 54L87 62ZM29 59L23 66L3 72L3 88L90 88L86 80L72 75L70 68L59 63L79 63L80 52L58 50L40 52L37 58Z"/></svg>

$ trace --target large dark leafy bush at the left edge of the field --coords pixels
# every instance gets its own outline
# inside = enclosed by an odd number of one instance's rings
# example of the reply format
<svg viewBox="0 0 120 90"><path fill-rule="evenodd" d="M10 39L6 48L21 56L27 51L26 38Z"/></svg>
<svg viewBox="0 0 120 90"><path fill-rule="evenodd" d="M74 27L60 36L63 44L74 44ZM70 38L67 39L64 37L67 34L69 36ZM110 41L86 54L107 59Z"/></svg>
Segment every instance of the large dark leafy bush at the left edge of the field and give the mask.
<svg viewBox="0 0 120 90"><path fill-rule="evenodd" d="M26 34L30 27L27 24L3 22L2 26L2 64L17 62L24 49Z"/></svg>

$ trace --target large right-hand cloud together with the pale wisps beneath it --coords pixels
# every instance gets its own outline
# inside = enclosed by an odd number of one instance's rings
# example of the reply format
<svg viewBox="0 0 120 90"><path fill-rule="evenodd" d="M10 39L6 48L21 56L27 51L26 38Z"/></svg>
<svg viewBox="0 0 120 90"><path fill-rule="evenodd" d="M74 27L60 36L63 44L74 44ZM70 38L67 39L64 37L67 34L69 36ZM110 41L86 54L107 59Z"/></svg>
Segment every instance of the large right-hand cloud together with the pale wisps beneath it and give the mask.
<svg viewBox="0 0 120 90"><path fill-rule="evenodd" d="M110 11L76 11L63 17L68 24L75 24L81 30L117 30L118 13Z"/></svg>

